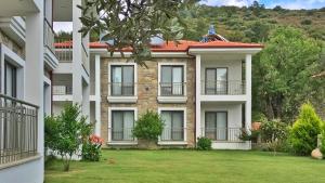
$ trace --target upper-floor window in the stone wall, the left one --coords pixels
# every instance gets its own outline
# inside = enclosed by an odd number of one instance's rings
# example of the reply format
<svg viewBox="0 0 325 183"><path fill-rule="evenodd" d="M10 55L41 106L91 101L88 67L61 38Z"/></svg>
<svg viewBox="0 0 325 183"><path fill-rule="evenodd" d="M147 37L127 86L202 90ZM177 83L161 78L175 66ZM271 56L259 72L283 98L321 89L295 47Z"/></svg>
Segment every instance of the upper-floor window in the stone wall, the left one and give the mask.
<svg viewBox="0 0 325 183"><path fill-rule="evenodd" d="M134 95L134 66L112 66L110 93L117 96Z"/></svg>

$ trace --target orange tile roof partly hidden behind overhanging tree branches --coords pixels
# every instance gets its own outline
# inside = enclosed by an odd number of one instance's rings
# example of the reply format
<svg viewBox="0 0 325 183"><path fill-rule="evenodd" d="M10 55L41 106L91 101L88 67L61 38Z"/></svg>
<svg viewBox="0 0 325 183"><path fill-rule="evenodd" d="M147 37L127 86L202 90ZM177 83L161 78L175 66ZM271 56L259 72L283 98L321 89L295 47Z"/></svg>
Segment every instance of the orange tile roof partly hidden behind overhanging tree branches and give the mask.
<svg viewBox="0 0 325 183"><path fill-rule="evenodd" d="M69 48L72 47L72 41L54 43L55 48ZM106 49L109 45L102 42L90 42L89 47L91 49ZM231 49L231 48L263 48L259 43L243 43L243 42L225 42L225 41L211 41L211 42L198 42L190 40L180 40L179 44L173 41L165 41L161 45L152 45L153 52L187 52L188 49ZM132 51L131 48L122 49L125 52Z"/></svg>

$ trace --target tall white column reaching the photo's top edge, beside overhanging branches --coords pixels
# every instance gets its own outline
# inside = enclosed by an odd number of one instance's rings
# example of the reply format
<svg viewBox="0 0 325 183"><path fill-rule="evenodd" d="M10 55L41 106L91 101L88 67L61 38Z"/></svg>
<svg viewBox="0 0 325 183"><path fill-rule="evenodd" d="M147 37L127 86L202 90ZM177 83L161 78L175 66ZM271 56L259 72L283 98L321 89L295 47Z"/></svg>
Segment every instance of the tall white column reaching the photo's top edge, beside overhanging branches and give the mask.
<svg viewBox="0 0 325 183"><path fill-rule="evenodd" d="M81 34L78 30L81 28L81 10L77 8L81 5L81 0L73 1L73 101L82 105L82 54L81 54Z"/></svg>

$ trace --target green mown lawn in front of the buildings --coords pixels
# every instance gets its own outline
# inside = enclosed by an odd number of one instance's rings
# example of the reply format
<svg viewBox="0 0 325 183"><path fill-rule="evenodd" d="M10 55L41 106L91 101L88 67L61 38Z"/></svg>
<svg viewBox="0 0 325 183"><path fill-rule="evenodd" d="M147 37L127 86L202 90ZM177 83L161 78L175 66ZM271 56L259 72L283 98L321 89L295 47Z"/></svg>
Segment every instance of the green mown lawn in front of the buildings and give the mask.
<svg viewBox="0 0 325 183"><path fill-rule="evenodd" d="M100 162L47 167L46 183L324 183L325 160L242 151L103 151Z"/></svg>

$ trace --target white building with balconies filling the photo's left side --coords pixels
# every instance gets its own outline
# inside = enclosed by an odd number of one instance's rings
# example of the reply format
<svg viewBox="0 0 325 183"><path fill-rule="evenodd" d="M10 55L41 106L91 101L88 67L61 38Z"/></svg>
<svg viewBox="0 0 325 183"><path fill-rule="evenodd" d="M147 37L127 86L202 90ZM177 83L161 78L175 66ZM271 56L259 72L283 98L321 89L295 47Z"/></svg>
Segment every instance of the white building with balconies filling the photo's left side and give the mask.
<svg viewBox="0 0 325 183"><path fill-rule="evenodd" d="M89 114L89 53L82 47L88 37L78 34L81 10L77 4L81 0L0 2L0 183L43 182L43 118L55 110L53 77L72 75L72 100ZM64 66L68 71L62 69L54 50L53 22L74 25L74 62Z"/></svg>

